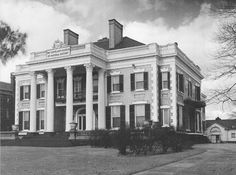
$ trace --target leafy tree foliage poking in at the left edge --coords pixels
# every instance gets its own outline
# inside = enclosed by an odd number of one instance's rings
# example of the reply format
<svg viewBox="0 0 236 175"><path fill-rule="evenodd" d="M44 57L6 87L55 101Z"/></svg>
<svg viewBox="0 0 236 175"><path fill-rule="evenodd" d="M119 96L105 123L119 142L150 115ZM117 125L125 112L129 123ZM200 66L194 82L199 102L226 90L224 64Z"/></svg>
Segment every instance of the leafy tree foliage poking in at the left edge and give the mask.
<svg viewBox="0 0 236 175"><path fill-rule="evenodd" d="M25 54L26 33L12 30L9 25L0 21L0 58L2 64L6 64L19 52Z"/></svg>

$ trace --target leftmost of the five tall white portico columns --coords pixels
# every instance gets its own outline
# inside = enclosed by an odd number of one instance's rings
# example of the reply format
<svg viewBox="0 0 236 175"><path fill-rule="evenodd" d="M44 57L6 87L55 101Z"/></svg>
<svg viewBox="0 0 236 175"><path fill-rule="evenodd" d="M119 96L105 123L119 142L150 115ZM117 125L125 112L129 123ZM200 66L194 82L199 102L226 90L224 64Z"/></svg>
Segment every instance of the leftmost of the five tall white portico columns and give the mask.
<svg viewBox="0 0 236 175"><path fill-rule="evenodd" d="M30 132L36 132L36 78L35 72L30 73L31 86L30 86Z"/></svg>

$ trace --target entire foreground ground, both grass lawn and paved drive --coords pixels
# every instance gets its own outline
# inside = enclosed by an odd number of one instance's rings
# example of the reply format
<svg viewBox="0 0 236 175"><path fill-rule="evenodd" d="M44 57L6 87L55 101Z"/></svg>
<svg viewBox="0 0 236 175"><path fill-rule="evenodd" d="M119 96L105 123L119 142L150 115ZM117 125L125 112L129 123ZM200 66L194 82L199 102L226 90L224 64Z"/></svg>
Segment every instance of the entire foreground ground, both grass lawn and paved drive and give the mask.
<svg viewBox="0 0 236 175"><path fill-rule="evenodd" d="M236 174L236 144L196 145L180 153L120 156L89 146L1 147L3 175Z"/></svg>

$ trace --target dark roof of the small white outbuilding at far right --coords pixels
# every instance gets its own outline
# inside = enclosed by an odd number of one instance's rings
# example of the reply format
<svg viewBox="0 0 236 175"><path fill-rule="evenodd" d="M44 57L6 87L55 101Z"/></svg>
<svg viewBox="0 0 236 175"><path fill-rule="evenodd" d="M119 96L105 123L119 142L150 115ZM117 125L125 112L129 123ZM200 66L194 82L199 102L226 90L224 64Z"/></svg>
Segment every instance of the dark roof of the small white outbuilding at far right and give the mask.
<svg viewBox="0 0 236 175"><path fill-rule="evenodd" d="M210 127L213 124L219 124L225 129L236 129L236 119L227 119L227 120L206 120L206 128Z"/></svg>

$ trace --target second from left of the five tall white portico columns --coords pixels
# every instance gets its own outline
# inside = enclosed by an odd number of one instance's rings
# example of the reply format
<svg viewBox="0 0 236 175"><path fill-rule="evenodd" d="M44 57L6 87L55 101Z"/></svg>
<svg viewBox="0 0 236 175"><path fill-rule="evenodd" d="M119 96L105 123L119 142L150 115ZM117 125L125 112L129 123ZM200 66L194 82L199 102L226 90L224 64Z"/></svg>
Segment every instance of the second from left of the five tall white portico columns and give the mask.
<svg viewBox="0 0 236 175"><path fill-rule="evenodd" d="M54 71L47 70L47 132L54 132Z"/></svg>

